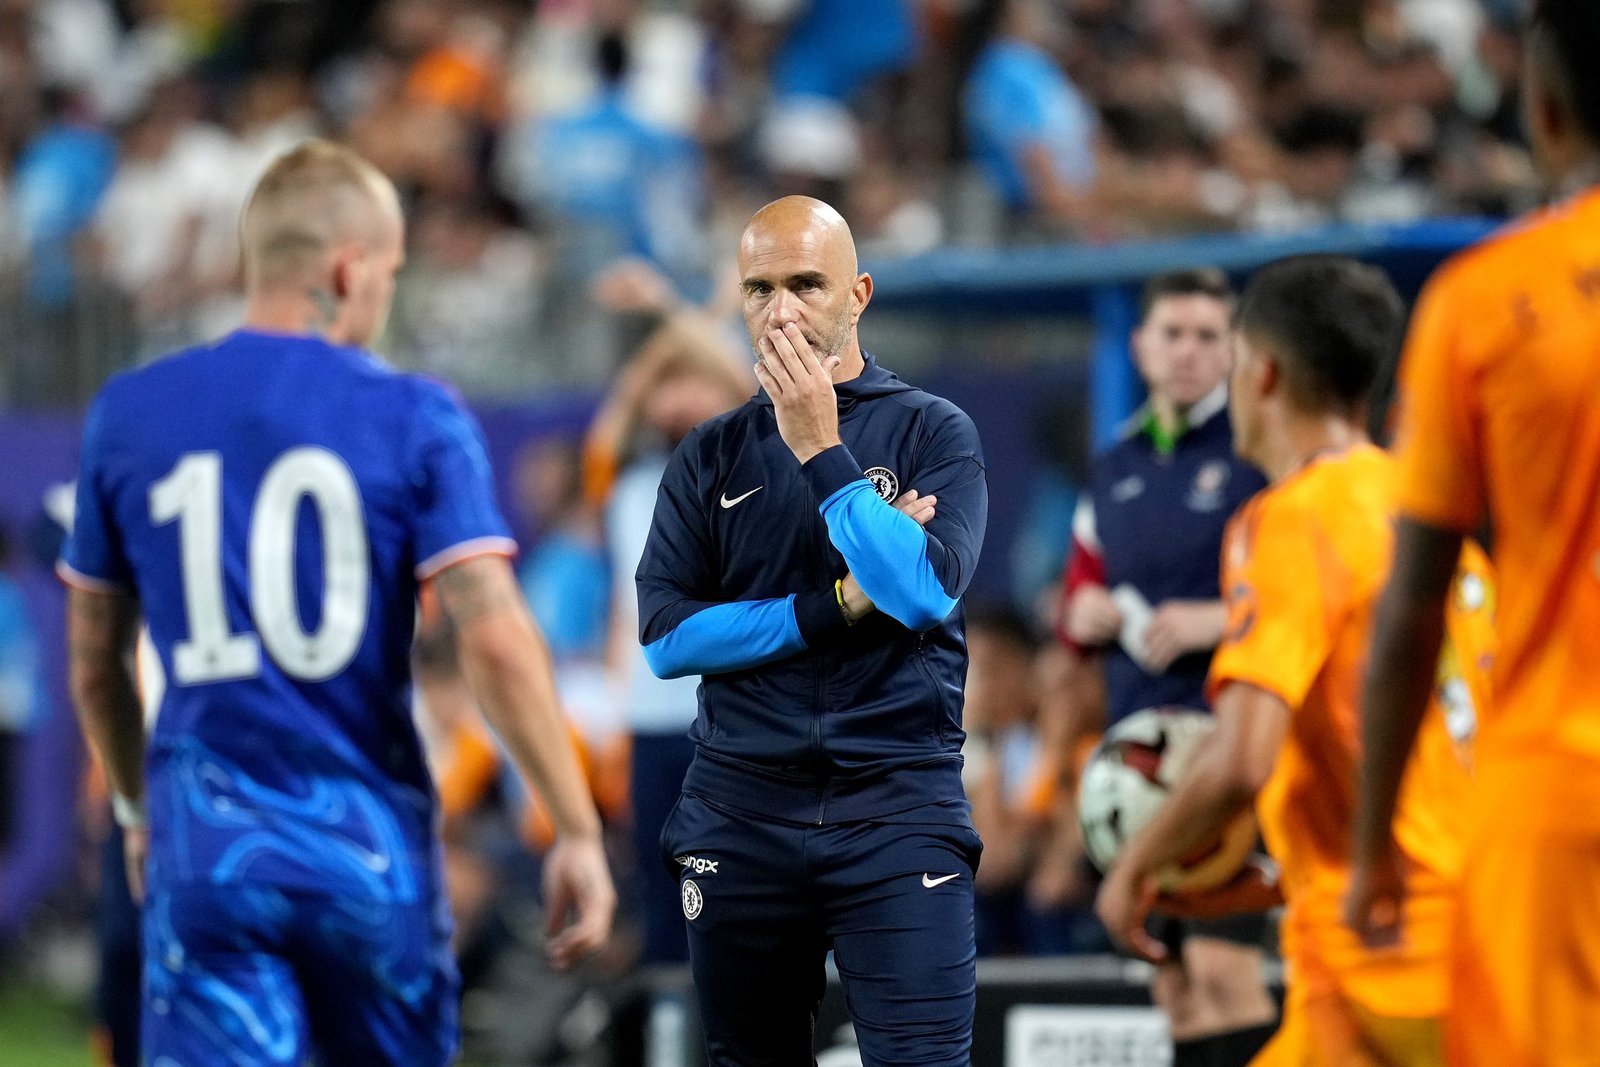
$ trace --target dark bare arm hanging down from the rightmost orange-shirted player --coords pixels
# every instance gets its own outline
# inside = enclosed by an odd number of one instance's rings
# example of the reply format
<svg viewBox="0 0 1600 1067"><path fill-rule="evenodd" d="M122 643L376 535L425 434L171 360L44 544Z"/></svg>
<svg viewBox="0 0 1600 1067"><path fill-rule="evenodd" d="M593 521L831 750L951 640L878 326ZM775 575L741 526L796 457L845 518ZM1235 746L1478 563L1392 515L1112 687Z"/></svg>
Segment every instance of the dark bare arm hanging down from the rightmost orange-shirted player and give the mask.
<svg viewBox="0 0 1600 1067"><path fill-rule="evenodd" d="M1445 600L1462 534L1400 518L1389 584L1378 601L1362 691L1358 779L1346 923L1373 947L1398 941L1405 902L1394 838L1400 782L1427 713L1445 640Z"/></svg>

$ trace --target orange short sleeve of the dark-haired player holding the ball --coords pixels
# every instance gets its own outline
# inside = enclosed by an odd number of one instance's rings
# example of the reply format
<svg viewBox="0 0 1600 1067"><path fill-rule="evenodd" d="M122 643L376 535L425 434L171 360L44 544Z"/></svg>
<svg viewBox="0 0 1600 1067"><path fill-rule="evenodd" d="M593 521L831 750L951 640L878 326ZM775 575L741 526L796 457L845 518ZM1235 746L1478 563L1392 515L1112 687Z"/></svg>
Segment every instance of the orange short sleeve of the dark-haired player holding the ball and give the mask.
<svg viewBox="0 0 1600 1067"><path fill-rule="evenodd" d="M1333 648L1328 598L1344 577L1328 573L1317 531L1282 496L1258 498L1222 541L1227 630L1211 657L1206 699L1245 681L1299 707Z"/></svg>

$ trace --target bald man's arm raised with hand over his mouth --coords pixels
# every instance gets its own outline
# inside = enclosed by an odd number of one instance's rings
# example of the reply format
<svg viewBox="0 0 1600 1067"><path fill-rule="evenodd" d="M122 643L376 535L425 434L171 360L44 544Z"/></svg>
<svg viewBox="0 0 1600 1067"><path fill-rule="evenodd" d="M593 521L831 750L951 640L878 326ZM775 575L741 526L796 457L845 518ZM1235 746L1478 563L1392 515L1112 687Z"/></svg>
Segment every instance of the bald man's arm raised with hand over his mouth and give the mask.
<svg viewBox="0 0 1600 1067"><path fill-rule="evenodd" d="M802 464L829 541L845 557L864 598L912 630L939 625L966 590L989 520L978 432L958 408L928 410L915 494L938 514L918 526L886 504L838 437L838 402L830 368L789 325L762 338L757 379L773 397L778 429Z"/></svg>

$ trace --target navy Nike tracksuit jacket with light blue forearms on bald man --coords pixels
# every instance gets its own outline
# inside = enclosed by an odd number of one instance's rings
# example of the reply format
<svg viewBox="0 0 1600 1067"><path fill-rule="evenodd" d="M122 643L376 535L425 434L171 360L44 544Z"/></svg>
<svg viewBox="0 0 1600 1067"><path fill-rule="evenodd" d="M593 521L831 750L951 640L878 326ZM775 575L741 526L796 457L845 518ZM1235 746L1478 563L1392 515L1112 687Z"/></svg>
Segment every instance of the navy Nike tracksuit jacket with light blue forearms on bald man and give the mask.
<svg viewBox="0 0 1600 1067"><path fill-rule="evenodd" d="M645 657L704 675L685 789L790 822L960 800L958 598L989 514L971 419L870 357L842 446L795 462L760 394L678 446L638 566ZM890 506L938 498L926 528ZM846 571L877 605L846 625Z"/></svg>

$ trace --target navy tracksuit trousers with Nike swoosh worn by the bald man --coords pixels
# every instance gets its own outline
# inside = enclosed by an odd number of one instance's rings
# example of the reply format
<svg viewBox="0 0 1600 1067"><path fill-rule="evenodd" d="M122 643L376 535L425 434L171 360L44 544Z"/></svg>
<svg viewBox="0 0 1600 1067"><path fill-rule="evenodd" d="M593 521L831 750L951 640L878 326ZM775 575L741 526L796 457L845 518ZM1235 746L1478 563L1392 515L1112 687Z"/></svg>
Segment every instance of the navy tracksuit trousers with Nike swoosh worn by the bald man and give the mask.
<svg viewBox="0 0 1600 1067"><path fill-rule="evenodd" d="M661 848L710 1067L813 1067L829 949L864 1067L970 1065L982 845L915 817L795 825L683 795Z"/></svg>

